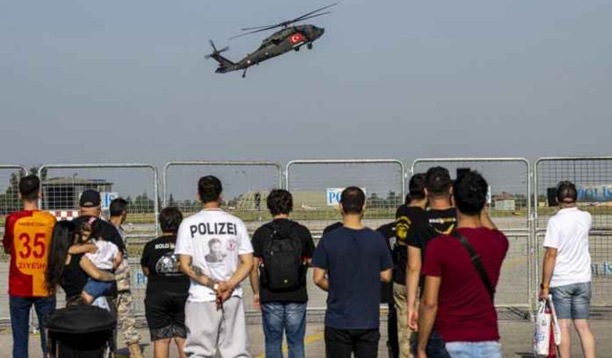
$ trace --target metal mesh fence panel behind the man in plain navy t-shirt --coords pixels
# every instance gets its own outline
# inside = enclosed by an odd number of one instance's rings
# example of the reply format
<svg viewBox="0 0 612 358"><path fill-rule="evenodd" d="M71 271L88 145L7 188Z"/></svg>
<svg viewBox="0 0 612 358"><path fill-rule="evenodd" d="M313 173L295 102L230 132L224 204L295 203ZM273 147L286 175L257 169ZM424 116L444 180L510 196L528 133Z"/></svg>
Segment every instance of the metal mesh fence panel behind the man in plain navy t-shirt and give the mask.
<svg viewBox="0 0 612 358"><path fill-rule="evenodd" d="M349 185L365 190L364 218L374 228L395 219L406 196L406 166L396 159L290 161L285 175L293 195L292 216L313 232L340 219L339 192Z"/></svg>

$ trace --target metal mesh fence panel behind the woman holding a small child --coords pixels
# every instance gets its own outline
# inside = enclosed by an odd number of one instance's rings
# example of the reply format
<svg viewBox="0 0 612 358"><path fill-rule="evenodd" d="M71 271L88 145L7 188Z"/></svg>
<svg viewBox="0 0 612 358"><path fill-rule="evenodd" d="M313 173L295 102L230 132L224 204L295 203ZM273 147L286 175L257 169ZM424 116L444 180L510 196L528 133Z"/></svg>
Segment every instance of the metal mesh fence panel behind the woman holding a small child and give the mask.
<svg viewBox="0 0 612 358"><path fill-rule="evenodd" d="M142 246L157 237L159 197L157 168L150 164L53 164L41 166L42 210L56 216L75 215L80 193L95 189L102 194L102 212L107 217L107 205L120 196L128 202L128 215L123 225L127 232L127 248L132 262L132 287L135 310L144 314L144 280L139 272ZM66 217L58 217L66 219ZM68 218L69 219L69 218ZM134 265L135 264L135 265ZM138 281L138 278L141 278ZM63 307L63 293L58 294L58 307ZM61 302L60 302L61 301Z"/></svg>

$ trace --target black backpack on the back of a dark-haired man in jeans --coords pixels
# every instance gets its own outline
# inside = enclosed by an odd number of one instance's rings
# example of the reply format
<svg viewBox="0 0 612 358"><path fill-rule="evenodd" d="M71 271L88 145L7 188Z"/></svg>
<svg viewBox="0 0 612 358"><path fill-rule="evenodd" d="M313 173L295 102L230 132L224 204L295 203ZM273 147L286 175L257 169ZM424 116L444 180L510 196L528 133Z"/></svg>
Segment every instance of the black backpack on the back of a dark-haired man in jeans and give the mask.
<svg viewBox="0 0 612 358"><path fill-rule="evenodd" d="M260 264L260 280L270 291L293 291L306 281L302 263L302 239L297 234L297 223L282 229L278 224L268 224L271 232L263 243L263 263Z"/></svg>

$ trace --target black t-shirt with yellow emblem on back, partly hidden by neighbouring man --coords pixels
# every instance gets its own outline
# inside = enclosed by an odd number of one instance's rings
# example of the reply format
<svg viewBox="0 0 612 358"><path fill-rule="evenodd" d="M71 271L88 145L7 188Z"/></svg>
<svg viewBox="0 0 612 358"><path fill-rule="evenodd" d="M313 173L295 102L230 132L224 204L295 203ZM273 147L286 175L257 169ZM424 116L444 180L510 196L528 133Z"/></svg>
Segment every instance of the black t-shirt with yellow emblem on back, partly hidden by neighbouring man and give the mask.
<svg viewBox="0 0 612 358"><path fill-rule="evenodd" d="M393 279L395 283L406 285L406 266L408 265L408 242L418 240L418 237L428 235L426 211L421 207L402 205L396 212L394 235L396 244L393 247L396 270Z"/></svg>

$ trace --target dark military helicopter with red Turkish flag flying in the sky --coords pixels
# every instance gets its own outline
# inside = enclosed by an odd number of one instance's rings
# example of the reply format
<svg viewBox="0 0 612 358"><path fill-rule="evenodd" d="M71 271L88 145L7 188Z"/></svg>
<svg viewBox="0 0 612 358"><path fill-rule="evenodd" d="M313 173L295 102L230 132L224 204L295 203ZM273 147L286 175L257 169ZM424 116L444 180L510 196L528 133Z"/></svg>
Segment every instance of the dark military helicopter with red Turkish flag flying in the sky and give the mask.
<svg viewBox="0 0 612 358"><path fill-rule="evenodd" d="M314 25L292 24L298 21L307 20L309 18L327 15L332 11L321 11L329 9L332 6L336 6L337 4L338 3L323 6L322 8L317 9L315 11L310 11L309 13L305 13L302 16L298 16L297 18L293 18L292 20L283 21L275 25L241 28L241 31L249 32L242 33L238 36L232 36L230 39L247 36L253 33L259 33L262 31L272 30L273 28L282 29L265 38L257 50L255 50L253 53L249 53L248 55L246 55L246 57L240 60L238 63L234 63L231 60L228 60L227 58L223 57L221 53L229 50L229 48L226 46L225 48L217 50L212 40L209 40L209 42L211 43L213 52L210 55L206 55L205 58L213 58L219 63L217 69L215 70L216 73L226 73L242 70L242 77L244 78L246 77L246 70L248 70L248 67L258 65L259 63L270 58L283 55L283 53L287 53L290 50L299 51L303 45L306 45L309 50L312 50L312 43L318 38L320 38L323 33L325 33L325 29Z"/></svg>

